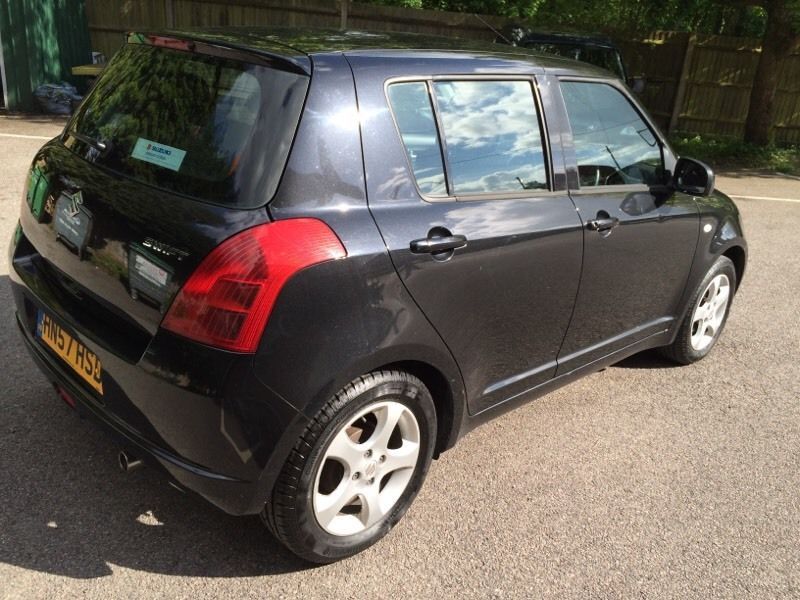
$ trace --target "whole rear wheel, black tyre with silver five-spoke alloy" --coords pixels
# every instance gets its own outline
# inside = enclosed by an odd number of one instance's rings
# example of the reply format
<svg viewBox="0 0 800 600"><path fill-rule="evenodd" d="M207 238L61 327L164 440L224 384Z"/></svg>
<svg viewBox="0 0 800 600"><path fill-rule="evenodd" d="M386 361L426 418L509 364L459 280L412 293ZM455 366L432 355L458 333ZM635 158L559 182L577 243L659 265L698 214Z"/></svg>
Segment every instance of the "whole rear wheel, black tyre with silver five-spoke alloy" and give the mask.
<svg viewBox="0 0 800 600"><path fill-rule="evenodd" d="M278 476L261 517L289 550L330 563L376 543L422 487L436 440L430 392L402 371L376 371L320 409Z"/></svg>

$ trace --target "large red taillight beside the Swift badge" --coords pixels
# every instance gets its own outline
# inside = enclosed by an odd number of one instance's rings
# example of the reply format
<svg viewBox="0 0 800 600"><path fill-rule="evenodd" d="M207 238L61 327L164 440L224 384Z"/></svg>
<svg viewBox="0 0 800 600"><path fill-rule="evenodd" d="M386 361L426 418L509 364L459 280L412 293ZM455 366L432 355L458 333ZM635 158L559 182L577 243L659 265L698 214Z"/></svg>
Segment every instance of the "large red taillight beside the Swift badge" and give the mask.
<svg viewBox="0 0 800 600"><path fill-rule="evenodd" d="M283 284L300 269L346 255L317 219L253 227L203 259L161 326L210 346L255 352Z"/></svg>

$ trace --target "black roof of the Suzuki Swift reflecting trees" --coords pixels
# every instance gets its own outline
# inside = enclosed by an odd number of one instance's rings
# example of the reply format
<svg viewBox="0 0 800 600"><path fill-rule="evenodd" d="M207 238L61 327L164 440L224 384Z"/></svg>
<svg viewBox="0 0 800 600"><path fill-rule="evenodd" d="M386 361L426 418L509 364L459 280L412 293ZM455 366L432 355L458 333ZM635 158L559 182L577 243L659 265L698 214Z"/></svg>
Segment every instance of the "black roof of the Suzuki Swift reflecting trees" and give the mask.
<svg viewBox="0 0 800 600"><path fill-rule="evenodd" d="M439 59L447 55L462 59L491 56L499 61L507 59L509 63L518 64L522 60L554 74L609 77L609 72L600 67L527 48L414 33L225 27L170 30L161 35L279 56L300 66L308 56L339 52L409 59L426 55Z"/></svg>

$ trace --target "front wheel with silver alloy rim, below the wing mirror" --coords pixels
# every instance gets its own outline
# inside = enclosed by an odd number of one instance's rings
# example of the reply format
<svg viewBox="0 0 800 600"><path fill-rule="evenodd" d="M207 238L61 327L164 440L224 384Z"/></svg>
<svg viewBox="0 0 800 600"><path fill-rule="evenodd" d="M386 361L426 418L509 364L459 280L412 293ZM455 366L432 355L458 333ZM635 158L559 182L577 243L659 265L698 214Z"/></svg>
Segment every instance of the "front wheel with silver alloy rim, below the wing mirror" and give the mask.
<svg viewBox="0 0 800 600"><path fill-rule="evenodd" d="M682 365L705 358L725 328L735 290L736 268L720 256L695 289L675 341L662 354Z"/></svg>

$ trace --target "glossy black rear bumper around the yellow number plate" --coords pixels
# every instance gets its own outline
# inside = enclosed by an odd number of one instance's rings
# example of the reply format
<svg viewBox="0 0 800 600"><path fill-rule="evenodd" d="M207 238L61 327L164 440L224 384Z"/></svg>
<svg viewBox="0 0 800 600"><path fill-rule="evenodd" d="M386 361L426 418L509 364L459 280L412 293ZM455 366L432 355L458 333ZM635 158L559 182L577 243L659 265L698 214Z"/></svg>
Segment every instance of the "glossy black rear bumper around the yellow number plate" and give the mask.
<svg viewBox="0 0 800 600"><path fill-rule="evenodd" d="M284 449L293 445L306 420L255 377L252 357L218 354L161 333L136 361L115 355L76 326L50 296L48 282L25 260L15 259L10 269L16 322L47 379L121 448L158 467L181 488L229 514L260 511ZM39 310L102 360L102 396L36 338Z"/></svg>

